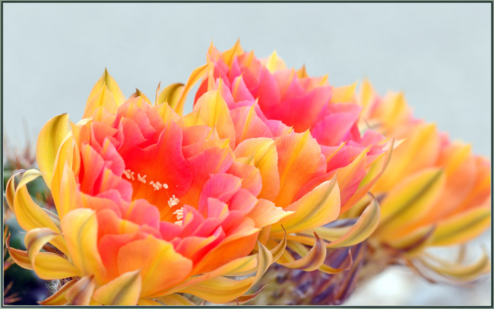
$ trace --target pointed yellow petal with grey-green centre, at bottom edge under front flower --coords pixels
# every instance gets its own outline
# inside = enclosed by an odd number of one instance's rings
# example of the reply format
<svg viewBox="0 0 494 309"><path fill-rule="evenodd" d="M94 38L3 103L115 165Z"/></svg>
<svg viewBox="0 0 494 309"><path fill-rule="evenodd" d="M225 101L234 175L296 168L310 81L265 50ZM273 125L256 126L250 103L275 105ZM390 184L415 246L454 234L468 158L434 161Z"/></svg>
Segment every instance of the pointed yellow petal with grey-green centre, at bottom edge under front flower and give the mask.
<svg viewBox="0 0 494 309"><path fill-rule="evenodd" d="M93 299L105 306L135 306L141 294L140 269L121 274L94 291Z"/></svg>

